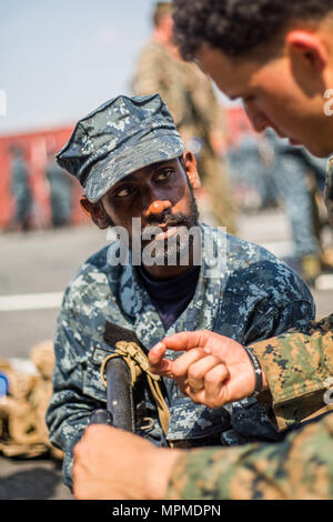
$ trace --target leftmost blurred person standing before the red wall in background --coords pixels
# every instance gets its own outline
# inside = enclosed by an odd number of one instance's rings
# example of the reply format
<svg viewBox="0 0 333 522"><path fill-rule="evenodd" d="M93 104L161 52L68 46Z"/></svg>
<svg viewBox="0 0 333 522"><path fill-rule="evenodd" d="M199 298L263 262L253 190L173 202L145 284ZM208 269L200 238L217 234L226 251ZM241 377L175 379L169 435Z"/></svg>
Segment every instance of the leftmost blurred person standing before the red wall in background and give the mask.
<svg viewBox="0 0 333 522"><path fill-rule="evenodd" d="M13 145L11 152L11 192L14 199L14 215L10 231L28 232L32 218L32 193L29 183L29 169L21 147Z"/></svg>

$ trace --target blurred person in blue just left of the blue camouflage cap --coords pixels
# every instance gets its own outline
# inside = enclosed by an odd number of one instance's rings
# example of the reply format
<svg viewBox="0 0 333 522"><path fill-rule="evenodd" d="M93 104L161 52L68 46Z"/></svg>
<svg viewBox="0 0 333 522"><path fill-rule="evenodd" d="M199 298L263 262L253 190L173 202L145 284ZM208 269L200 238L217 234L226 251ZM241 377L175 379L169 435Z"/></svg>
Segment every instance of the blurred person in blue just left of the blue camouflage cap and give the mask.
<svg viewBox="0 0 333 522"><path fill-rule="evenodd" d="M48 153L46 177L50 187L51 225L65 227L72 210L72 180L56 161L56 150Z"/></svg>

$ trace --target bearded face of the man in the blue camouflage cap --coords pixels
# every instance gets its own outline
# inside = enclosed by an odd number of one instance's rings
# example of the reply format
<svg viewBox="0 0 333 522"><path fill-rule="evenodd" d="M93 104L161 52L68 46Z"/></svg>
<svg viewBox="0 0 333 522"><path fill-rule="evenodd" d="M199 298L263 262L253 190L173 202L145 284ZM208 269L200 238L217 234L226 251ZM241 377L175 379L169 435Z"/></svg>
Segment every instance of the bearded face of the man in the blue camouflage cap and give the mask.
<svg viewBox="0 0 333 522"><path fill-rule="evenodd" d="M127 230L132 251L138 253L140 244L143 264L148 259L159 265L186 262L198 234L192 187L186 163L175 159L133 172L103 198L112 223Z"/></svg>

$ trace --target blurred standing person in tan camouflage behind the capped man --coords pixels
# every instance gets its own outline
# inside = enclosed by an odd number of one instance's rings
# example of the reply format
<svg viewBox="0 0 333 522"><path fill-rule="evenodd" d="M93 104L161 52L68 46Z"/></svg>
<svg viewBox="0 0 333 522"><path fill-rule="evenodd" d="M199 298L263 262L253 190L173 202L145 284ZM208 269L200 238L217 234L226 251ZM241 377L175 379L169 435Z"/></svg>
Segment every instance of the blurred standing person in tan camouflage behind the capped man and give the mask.
<svg viewBox="0 0 333 522"><path fill-rule="evenodd" d="M211 81L180 59L172 44L172 4L159 2L152 40L142 50L133 80L139 96L159 92L167 102L186 150L195 154L202 189L199 208L204 218L235 233L235 208L222 158L225 127L222 107Z"/></svg>

